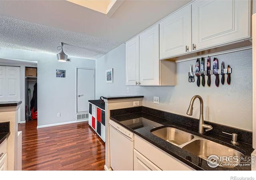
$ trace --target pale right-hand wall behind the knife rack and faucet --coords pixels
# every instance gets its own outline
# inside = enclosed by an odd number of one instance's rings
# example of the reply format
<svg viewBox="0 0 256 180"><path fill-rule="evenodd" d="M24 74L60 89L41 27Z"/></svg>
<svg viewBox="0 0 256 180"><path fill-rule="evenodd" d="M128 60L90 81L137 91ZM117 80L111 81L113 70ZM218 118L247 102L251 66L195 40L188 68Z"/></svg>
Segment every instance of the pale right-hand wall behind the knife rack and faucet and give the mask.
<svg viewBox="0 0 256 180"><path fill-rule="evenodd" d="M189 65L196 60L177 63L176 86L128 86L125 85L125 44L122 44L96 60L96 98L103 95L144 95L143 106L186 115L192 96L204 99L205 120L252 131L252 50L244 50L214 56L232 67L231 85L217 88L212 76L212 85L196 86L188 82ZM206 60L206 59L205 59ZM213 58L212 58L213 60ZM114 83L105 83L105 70L114 68ZM220 76L221 77L221 76ZM196 79L195 79L196 80ZM207 80L207 78L206 78ZM160 104L153 103L153 96L160 97ZM194 104L194 118L199 118L199 101Z"/></svg>

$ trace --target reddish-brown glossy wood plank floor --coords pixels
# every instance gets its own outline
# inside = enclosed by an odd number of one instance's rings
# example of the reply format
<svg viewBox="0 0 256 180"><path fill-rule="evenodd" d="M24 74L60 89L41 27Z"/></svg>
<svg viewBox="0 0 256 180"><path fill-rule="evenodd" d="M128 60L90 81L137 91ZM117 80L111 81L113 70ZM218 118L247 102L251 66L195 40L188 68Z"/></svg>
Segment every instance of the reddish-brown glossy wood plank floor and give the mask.
<svg viewBox="0 0 256 180"><path fill-rule="evenodd" d="M105 144L87 122L22 130L22 170L104 170Z"/></svg>

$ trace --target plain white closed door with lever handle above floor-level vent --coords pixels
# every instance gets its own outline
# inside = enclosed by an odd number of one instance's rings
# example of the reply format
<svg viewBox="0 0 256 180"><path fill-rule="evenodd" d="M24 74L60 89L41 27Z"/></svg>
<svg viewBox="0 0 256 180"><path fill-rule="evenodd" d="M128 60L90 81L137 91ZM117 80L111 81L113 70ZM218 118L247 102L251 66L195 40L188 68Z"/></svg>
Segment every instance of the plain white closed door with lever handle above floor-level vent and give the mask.
<svg viewBox="0 0 256 180"><path fill-rule="evenodd" d="M94 99L94 69L77 68L76 73L76 112L86 112L89 109L88 100Z"/></svg>

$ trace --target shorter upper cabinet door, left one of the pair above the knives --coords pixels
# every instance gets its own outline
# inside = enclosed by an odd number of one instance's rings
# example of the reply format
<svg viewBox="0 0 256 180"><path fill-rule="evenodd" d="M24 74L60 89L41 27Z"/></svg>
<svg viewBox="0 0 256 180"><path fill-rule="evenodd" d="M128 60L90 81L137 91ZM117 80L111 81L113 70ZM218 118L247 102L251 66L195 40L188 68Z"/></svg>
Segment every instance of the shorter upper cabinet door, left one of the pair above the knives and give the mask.
<svg viewBox="0 0 256 180"><path fill-rule="evenodd" d="M191 50L191 6L188 6L160 22L160 59Z"/></svg>

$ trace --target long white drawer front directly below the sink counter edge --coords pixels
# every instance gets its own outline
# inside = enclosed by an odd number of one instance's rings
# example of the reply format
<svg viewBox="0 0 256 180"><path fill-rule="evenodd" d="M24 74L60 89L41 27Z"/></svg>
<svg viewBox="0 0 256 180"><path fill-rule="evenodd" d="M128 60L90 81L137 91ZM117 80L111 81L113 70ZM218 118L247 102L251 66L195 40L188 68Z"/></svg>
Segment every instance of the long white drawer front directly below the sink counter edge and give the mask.
<svg viewBox="0 0 256 180"><path fill-rule="evenodd" d="M194 170L137 135L134 136L134 148L162 170Z"/></svg>

